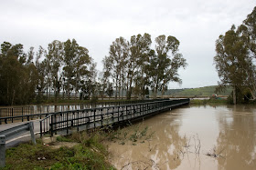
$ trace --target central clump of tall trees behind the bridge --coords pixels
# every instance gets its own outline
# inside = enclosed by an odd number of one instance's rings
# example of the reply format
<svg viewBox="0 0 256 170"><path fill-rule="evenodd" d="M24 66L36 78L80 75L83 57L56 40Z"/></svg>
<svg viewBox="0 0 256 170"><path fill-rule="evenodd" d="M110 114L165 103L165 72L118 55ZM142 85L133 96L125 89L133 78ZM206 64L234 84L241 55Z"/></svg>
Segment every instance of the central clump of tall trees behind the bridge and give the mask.
<svg viewBox="0 0 256 170"><path fill-rule="evenodd" d="M153 91L165 94L169 82L181 83L177 73L187 66L186 59L179 53L179 41L175 36L159 35L155 38L155 49L151 48L151 35L133 35L130 41L122 36L110 45L109 55L103 59L101 82L103 89L114 86L115 97L144 98Z"/></svg>

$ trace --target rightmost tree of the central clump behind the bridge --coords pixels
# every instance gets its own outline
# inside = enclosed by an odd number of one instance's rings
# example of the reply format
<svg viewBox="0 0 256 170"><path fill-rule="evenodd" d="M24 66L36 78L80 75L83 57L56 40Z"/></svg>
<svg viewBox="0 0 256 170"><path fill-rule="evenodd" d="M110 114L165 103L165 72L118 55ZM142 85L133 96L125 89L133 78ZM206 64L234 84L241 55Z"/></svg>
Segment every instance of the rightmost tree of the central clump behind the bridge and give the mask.
<svg viewBox="0 0 256 170"><path fill-rule="evenodd" d="M175 36L169 35L166 38L165 35L159 35L155 38L155 44L156 54L151 54L152 61L150 62L150 71L156 70L156 72L151 72L154 97L158 90L161 90L163 96L170 81L181 83L177 73L178 69L187 66L186 59L178 52L179 41Z"/></svg>

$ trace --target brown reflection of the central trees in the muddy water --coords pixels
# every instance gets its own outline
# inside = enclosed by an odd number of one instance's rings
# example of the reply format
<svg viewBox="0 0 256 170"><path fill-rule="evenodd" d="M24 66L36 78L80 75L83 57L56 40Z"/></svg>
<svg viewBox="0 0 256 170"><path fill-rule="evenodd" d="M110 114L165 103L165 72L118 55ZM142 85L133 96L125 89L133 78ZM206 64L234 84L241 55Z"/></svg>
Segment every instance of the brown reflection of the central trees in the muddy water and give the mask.
<svg viewBox="0 0 256 170"><path fill-rule="evenodd" d="M144 143L111 144L112 164L118 169L175 169L182 162L180 151L186 140L178 134L178 117L160 115L144 121L144 126L150 125L155 131L154 137Z"/></svg>

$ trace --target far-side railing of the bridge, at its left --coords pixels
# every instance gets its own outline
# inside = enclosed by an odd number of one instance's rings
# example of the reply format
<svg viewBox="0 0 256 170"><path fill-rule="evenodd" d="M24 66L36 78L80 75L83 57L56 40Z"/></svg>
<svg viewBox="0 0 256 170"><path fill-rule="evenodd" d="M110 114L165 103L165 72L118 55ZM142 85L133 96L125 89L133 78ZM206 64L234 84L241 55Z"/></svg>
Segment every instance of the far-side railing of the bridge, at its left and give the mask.
<svg viewBox="0 0 256 170"><path fill-rule="evenodd" d="M157 99L159 100L159 99ZM161 99L160 99L161 100ZM77 110L73 109L79 107L80 109L84 108L94 108L94 107L104 107L111 105L128 105L136 103L144 103L155 100L131 100L131 101L119 101L119 102L101 102L101 103L87 103L87 104L76 104L76 105L31 105L31 106L22 106L22 107L5 107L0 108L0 125L7 123L14 123L15 121L29 121L33 118L43 118L48 114L54 112L65 112L68 110Z"/></svg>

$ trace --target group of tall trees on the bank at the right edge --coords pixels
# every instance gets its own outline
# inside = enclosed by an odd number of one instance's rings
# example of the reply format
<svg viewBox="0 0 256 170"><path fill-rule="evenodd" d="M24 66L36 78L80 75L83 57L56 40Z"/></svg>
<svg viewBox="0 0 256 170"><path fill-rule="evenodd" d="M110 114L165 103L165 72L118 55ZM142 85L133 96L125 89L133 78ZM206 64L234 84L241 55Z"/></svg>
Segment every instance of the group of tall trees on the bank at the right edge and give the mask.
<svg viewBox="0 0 256 170"><path fill-rule="evenodd" d="M233 104L256 99L256 7L236 27L232 25L216 41L214 63L219 89L233 88Z"/></svg>

